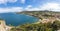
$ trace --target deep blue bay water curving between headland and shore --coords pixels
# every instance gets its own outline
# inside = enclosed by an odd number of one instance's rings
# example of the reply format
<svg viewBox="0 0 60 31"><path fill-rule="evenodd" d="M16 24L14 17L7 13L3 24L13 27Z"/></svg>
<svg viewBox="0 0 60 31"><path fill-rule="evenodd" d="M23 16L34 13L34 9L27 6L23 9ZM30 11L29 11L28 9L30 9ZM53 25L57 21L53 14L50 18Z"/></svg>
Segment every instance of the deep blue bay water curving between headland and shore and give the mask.
<svg viewBox="0 0 60 31"><path fill-rule="evenodd" d="M3 18L7 25L12 24L14 26L22 25L26 23L34 23L38 21L38 18L27 16L24 14L16 13L1 13L0 17Z"/></svg>

